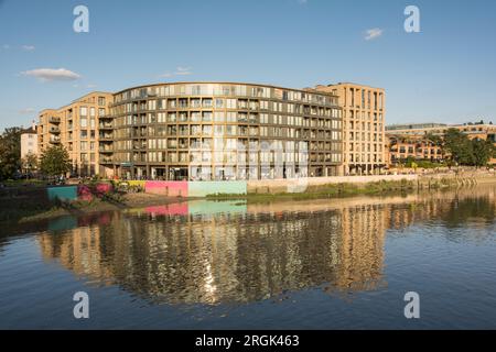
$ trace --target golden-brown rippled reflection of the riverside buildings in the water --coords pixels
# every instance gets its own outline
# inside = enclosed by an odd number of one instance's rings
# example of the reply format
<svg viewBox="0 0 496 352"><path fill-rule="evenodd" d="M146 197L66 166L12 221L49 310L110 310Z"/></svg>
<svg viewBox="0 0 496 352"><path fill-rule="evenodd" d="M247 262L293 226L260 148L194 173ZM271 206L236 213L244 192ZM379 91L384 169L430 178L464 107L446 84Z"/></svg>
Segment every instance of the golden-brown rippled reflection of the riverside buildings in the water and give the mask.
<svg viewBox="0 0 496 352"><path fill-rule="evenodd" d="M105 221L40 234L39 243L46 260L76 276L118 285L153 302L248 302L320 286L373 290L386 285L388 229L443 217L453 221L454 207L479 199L470 196L332 206L328 200L197 201L115 212ZM494 188L484 197L474 216L493 220Z"/></svg>

